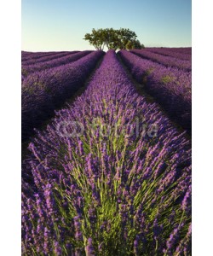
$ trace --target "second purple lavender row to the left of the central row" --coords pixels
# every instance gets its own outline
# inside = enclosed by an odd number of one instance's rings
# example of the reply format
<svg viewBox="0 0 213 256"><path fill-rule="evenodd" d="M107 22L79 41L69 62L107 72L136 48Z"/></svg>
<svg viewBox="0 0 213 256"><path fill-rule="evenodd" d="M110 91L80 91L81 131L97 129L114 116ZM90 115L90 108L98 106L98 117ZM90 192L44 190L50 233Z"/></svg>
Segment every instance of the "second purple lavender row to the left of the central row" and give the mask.
<svg viewBox="0 0 213 256"><path fill-rule="evenodd" d="M66 65L72 61L78 61L80 58L82 58L85 55L89 55L91 53L91 50L83 50L75 54L66 55L60 58L56 58L51 61L45 61L41 63L37 63L35 65L29 65L29 66L22 66L21 67L21 75L22 78L26 78L30 73L35 73L39 71L43 71L45 69L49 69L51 67L59 67L61 65Z"/></svg>

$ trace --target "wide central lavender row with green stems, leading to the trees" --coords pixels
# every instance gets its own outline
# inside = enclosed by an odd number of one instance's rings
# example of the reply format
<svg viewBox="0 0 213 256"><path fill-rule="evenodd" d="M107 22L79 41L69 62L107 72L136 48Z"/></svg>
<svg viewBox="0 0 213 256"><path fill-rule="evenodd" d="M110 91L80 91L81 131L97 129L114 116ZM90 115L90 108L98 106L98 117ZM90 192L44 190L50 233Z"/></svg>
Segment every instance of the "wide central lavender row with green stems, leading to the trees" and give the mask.
<svg viewBox="0 0 213 256"><path fill-rule="evenodd" d="M189 148L108 51L30 144L23 255L190 255Z"/></svg>

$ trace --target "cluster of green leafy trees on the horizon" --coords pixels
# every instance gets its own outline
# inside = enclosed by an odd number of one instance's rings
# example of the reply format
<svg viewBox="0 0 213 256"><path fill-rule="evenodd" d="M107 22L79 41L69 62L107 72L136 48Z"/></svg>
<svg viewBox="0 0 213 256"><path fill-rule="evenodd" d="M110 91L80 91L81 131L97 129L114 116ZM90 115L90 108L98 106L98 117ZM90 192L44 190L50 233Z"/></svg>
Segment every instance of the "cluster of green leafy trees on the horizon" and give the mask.
<svg viewBox="0 0 213 256"><path fill-rule="evenodd" d="M140 43L135 32L129 28L93 28L91 33L86 33L84 40L88 40L95 49L141 49L144 45Z"/></svg>

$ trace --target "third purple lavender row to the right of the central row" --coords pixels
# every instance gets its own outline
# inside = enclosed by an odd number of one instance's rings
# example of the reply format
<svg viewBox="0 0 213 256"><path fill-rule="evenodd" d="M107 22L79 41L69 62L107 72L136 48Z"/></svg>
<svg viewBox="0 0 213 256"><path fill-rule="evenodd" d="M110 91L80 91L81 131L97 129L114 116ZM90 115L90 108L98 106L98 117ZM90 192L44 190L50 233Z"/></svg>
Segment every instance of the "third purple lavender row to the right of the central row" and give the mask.
<svg viewBox="0 0 213 256"><path fill-rule="evenodd" d="M192 61L191 54L184 54L184 53L172 51L168 48L146 48L146 49L147 51L151 51L159 55L170 56L170 57L174 57L176 59L185 60L185 61Z"/></svg>

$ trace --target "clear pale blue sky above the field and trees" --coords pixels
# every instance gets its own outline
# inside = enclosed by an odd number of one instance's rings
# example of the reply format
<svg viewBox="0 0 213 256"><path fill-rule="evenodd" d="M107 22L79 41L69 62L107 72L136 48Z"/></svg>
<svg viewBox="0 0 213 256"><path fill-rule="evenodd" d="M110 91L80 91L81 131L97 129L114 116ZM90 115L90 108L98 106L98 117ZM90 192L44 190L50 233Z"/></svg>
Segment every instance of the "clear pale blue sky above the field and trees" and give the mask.
<svg viewBox="0 0 213 256"><path fill-rule="evenodd" d="M22 0L23 50L94 49L92 28L130 28L145 46L192 45L192 0Z"/></svg>

